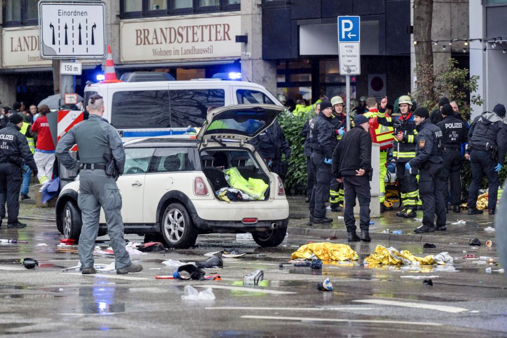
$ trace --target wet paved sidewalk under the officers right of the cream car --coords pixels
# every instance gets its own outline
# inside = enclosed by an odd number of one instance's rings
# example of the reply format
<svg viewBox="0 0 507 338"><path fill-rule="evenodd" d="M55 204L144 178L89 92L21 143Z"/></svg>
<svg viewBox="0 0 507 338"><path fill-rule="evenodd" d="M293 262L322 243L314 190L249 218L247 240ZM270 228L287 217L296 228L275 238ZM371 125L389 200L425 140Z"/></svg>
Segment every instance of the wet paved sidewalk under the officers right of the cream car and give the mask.
<svg viewBox="0 0 507 338"><path fill-rule="evenodd" d="M335 221L331 224L312 224L309 222L308 204L302 196L287 197L290 207L289 235L306 235L322 239L337 238L346 240L347 231L341 213L328 211L328 217ZM493 241L495 245L495 232L485 231L484 228L494 227L493 215L487 211L482 215L468 215L466 210L460 213L449 211L447 214L447 231L435 231L427 234L417 234L414 229L422 224L415 219L406 219L396 216L397 210L382 213L379 218L372 218L375 224L370 225L370 236L374 241L397 241L397 242L419 242L419 243L441 243L468 245L470 239L478 238L482 245L487 240ZM340 218L338 218L340 217ZM422 211L417 211L417 217L422 218ZM464 220L466 224L451 225L458 220ZM359 217L356 216L357 231L359 231ZM389 229L389 233L382 231ZM394 230L402 230L402 234L393 234Z"/></svg>

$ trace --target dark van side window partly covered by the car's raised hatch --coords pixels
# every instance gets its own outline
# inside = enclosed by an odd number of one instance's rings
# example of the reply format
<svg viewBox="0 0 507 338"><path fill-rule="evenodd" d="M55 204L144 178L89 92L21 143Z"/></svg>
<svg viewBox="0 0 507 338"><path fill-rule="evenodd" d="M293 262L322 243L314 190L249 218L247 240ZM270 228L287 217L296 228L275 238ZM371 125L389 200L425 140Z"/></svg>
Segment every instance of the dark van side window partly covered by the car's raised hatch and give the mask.
<svg viewBox="0 0 507 338"><path fill-rule="evenodd" d="M171 127L200 127L209 107L225 106L223 89L169 89Z"/></svg>

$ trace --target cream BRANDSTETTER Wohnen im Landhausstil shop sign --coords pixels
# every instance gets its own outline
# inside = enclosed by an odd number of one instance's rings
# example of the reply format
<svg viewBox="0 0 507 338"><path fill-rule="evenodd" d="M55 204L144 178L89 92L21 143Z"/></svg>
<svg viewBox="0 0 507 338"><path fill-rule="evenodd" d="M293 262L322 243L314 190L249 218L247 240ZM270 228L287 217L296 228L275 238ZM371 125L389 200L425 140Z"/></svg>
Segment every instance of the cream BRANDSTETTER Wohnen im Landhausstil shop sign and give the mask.
<svg viewBox="0 0 507 338"><path fill-rule="evenodd" d="M127 20L120 23L121 61L239 57L241 16Z"/></svg>

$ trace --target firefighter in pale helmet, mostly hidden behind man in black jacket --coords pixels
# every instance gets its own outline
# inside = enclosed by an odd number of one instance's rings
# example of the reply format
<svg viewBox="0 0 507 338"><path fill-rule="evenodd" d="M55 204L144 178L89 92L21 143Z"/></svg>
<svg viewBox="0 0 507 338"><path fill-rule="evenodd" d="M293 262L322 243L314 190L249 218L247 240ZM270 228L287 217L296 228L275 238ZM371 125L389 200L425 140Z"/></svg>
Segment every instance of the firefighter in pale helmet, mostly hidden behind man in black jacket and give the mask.
<svg viewBox="0 0 507 338"><path fill-rule="evenodd" d="M343 99L341 96L334 96L331 98L331 105L333 105L333 118L331 123L336 131L336 140L339 142L345 133L346 116L343 113ZM341 212L343 210L343 183L338 182L335 178L331 178L331 185L329 191L329 209L333 212Z"/></svg>

